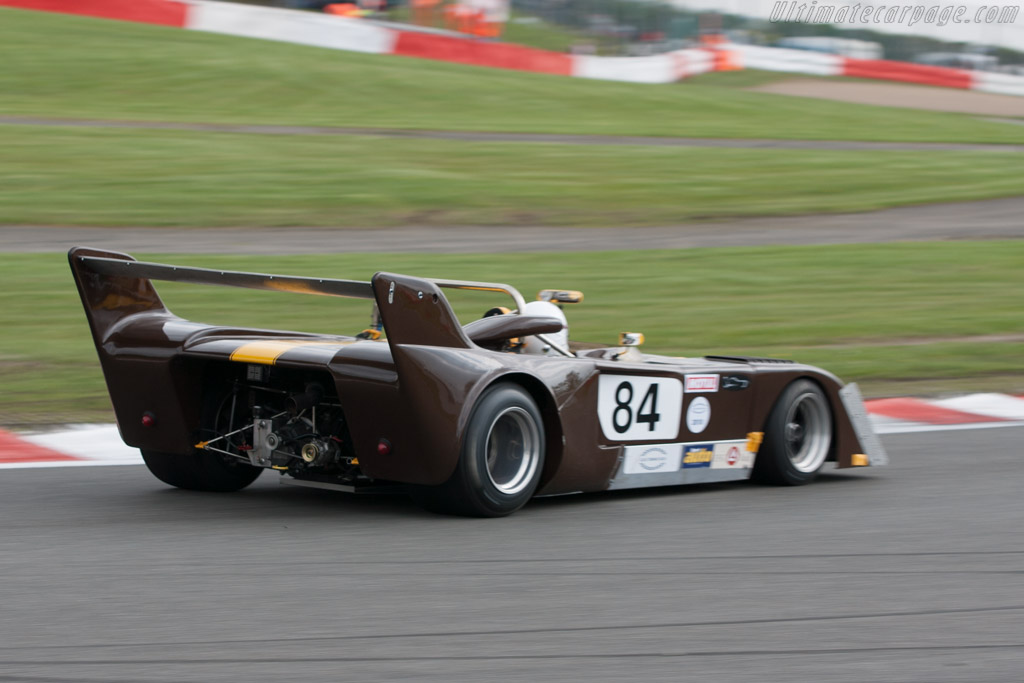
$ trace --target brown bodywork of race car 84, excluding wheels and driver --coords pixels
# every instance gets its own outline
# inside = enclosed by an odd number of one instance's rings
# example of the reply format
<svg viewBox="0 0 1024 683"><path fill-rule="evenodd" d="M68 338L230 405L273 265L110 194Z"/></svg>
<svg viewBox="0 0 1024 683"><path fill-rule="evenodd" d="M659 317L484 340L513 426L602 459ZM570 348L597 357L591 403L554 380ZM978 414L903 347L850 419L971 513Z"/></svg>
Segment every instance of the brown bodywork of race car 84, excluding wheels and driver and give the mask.
<svg viewBox="0 0 1024 683"><path fill-rule="evenodd" d="M550 321L523 315L519 327L503 321L505 331L490 324L489 332L472 332L478 344L453 312L445 283L395 273L378 272L369 283L264 275L142 263L86 248L72 250L69 259L121 434L142 450L195 452L213 443L211 424L227 420L238 427L234 416L244 412L238 401L279 394L285 401L287 394L301 403L305 391L332 425L316 438L344 461L330 469L332 477L439 484L455 470L477 398L506 381L524 387L544 418L540 495L742 479L776 398L806 378L831 408L829 459L839 467L885 459L857 415L855 389L841 395L836 377L809 366L617 348L555 356L507 352L487 343L487 334L532 334ZM379 311L386 341L193 323L165 307L154 280L367 299ZM521 309L518 293L513 298ZM227 387L234 387L229 409L217 397L227 395ZM269 402L284 404L275 401ZM315 405L312 417L317 432ZM297 478L326 476L285 461L274 468Z"/></svg>

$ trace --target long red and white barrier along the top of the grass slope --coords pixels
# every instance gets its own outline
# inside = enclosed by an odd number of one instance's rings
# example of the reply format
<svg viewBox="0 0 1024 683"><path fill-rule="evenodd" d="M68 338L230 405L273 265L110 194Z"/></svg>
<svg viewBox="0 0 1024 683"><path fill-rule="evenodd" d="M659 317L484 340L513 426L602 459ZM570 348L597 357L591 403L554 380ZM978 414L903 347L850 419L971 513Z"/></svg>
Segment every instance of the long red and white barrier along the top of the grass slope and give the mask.
<svg viewBox="0 0 1024 683"><path fill-rule="evenodd" d="M672 83L716 70L763 69L811 76L918 83L1024 96L1024 76L756 45L716 45L646 57L601 57L538 50L437 33L394 29L329 14L215 0L0 0L0 6L181 27L337 50L629 83Z"/></svg>

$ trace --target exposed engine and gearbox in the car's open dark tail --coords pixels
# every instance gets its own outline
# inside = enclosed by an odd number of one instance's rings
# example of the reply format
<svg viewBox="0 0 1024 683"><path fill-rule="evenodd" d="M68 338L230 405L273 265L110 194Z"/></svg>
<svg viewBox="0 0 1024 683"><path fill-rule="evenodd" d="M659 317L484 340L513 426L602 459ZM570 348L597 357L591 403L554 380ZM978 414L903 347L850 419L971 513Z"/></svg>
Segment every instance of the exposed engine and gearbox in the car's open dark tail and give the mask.
<svg viewBox="0 0 1024 683"><path fill-rule="evenodd" d="M207 402L198 447L298 479L358 477L344 413L325 382L250 366L246 379L227 384Z"/></svg>

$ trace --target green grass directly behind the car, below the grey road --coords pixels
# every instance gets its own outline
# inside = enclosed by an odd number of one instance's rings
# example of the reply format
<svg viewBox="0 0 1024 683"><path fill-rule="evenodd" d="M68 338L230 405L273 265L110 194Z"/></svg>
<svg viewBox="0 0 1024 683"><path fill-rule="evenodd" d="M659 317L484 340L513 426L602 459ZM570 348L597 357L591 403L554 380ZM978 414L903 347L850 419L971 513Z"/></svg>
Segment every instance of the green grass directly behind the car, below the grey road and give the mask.
<svg viewBox="0 0 1024 683"><path fill-rule="evenodd" d="M866 393L896 383L1024 389L1024 243L773 247L528 255L161 256L175 263L368 279L378 269L508 282L527 298L575 288L571 336L649 352L743 352L820 365ZM209 323L352 334L366 302L160 284ZM456 301L465 319L493 299ZM1004 335L1006 341L975 339ZM937 342L927 342L939 338ZM911 384L912 385L912 384ZM110 418L62 255L0 254L0 424Z"/></svg>

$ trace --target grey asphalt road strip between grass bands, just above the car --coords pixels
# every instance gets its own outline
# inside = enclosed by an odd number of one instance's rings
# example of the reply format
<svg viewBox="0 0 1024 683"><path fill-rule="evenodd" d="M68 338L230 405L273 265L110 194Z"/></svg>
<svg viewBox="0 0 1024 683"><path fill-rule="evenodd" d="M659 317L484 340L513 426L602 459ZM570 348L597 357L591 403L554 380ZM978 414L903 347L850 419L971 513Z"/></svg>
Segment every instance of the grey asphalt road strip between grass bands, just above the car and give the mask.
<svg viewBox="0 0 1024 683"><path fill-rule="evenodd" d="M311 254L688 249L1024 238L1024 197L854 214L742 218L666 227L410 226L131 228L0 225L0 251L78 245L127 252Z"/></svg>

